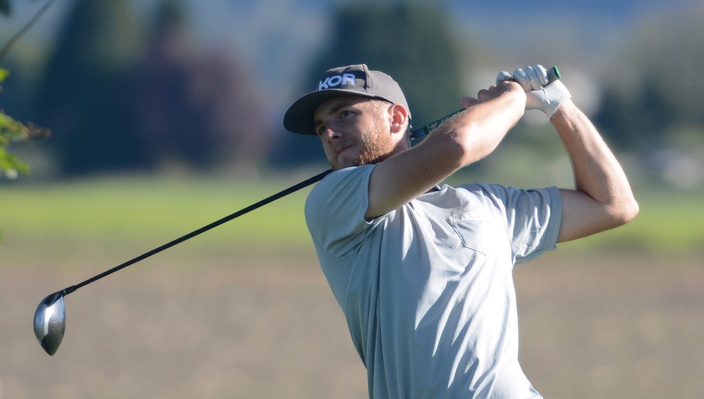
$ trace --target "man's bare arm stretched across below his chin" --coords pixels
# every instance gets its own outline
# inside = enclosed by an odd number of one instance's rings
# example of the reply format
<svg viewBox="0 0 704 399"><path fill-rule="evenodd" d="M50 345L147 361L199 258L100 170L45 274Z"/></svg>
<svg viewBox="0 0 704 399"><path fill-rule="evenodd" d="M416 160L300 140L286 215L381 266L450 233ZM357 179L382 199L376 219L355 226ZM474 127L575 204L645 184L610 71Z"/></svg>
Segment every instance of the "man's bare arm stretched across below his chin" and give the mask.
<svg viewBox="0 0 704 399"><path fill-rule="evenodd" d="M523 116L525 102L525 93L515 82L481 90L477 99L465 97L466 111L440 125L420 145L376 166L365 217L397 209L459 168L491 154Z"/></svg>

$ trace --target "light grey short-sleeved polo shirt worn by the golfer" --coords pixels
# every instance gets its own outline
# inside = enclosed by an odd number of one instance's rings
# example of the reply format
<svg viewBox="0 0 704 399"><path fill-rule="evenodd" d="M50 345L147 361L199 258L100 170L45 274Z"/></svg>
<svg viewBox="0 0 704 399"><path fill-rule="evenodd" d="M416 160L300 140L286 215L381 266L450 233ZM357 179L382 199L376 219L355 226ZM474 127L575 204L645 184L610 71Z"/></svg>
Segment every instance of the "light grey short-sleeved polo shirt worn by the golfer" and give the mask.
<svg viewBox="0 0 704 399"><path fill-rule="evenodd" d="M335 171L306 201L370 398L541 398L518 364L512 270L554 249L558 189L443 185L367 221L374 167Z"/></svg>

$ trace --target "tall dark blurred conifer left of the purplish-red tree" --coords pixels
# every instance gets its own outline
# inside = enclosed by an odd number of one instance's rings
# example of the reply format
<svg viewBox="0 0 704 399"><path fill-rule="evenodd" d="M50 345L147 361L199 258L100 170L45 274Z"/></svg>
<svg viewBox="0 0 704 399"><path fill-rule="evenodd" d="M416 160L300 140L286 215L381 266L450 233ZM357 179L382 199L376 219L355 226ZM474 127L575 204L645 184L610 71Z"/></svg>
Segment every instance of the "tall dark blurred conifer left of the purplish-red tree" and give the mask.
<svg viewBox="0 0 704 399"><path fill-rule="evenodd" d="M144 166L139 137L124 106L127 73L140 52L130 1L76 0L49 58L37 111L54 130L65 174Z"/></svg>

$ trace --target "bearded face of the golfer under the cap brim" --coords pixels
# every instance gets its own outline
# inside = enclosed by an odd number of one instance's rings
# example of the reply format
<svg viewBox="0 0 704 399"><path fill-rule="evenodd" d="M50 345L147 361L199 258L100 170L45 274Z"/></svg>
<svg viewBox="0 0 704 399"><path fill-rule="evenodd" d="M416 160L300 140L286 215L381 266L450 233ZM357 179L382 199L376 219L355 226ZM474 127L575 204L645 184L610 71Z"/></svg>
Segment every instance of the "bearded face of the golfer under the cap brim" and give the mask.
<svg viewBox="0 0 704 399"><path fill-rule="evenodd" d="M387 110L378 101L353 96L334 97L318 106L313 113L315 133L333 169L375 164L391 155L394 142Z"/></svg>

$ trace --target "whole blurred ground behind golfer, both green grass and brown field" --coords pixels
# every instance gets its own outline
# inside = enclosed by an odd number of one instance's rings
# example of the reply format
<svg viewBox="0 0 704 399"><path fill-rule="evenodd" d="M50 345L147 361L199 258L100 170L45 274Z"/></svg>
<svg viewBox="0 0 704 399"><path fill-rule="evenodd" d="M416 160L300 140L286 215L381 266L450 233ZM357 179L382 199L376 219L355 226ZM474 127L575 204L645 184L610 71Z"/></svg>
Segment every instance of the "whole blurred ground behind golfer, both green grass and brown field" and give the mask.
<svg viewBox="0 0 704 399"><path fill-rule="evenodd" d="M94 180L0 188L0 399L365 398L310 250L306 192L66 297L39 300L303 180ZM701 195L639 195L636 221L515 271L522 366L546 398L700 398Z"/></svg>

